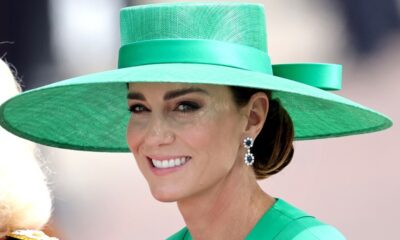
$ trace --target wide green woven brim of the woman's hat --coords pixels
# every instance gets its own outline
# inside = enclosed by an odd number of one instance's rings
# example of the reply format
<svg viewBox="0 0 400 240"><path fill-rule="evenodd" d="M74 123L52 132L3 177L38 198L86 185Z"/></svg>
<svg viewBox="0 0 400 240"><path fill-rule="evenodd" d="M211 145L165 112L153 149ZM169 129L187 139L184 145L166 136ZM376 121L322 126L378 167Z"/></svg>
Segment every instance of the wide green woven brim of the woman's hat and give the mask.
<svg viewBox="0 0 400 240"><path fill-rule="evenodd" d="M382 130L381 113L333 93L277 76L237 68L150 64L84 75L24 92L0 107L0 125L44 145L87 151L128 152L127 82L242 86L273 91L291 116L295 139Z"/></svg>

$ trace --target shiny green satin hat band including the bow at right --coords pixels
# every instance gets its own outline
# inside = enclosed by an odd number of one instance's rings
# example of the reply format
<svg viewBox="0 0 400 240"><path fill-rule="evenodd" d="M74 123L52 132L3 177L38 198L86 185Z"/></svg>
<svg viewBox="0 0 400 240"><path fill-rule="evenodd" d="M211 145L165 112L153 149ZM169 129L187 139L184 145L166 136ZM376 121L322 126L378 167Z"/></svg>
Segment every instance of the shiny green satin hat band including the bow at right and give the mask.
<svg viewBox="0 0 400 240"><path fill-rule="evenodd" d="M158 63L203 63L273 74L325 90L341 89L342 69L337 64L279 64L256 48L199 39L140 41L119 50L118 68Z"/></svg>

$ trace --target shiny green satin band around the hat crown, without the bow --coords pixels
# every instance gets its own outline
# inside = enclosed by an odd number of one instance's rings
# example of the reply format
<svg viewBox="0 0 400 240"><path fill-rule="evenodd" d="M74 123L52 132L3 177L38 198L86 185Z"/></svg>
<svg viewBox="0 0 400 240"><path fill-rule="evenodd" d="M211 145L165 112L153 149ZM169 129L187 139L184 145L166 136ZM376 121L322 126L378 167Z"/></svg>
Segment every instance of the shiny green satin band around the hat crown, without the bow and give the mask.
<svg viewBox="0 0 400 240"><path fill-rule="evenodd" d="M118 68L173 62L223 65L272 74L271 62L263 51L245 45L198 39L150 40L122 46Z"/></svg>

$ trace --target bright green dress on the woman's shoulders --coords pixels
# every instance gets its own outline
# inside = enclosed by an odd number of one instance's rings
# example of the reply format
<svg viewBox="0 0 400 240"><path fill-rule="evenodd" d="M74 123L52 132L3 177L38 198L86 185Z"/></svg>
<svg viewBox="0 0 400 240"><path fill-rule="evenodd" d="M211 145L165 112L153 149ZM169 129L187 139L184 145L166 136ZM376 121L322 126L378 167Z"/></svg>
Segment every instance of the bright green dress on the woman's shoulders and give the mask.
<svg viewBox="0 0 400 240"><path fill-rule="evenodd" d="M167 240L191 240L186 227ZM282 199L258 220L245 240L343 240L336 228L297 209Z"/></svg>

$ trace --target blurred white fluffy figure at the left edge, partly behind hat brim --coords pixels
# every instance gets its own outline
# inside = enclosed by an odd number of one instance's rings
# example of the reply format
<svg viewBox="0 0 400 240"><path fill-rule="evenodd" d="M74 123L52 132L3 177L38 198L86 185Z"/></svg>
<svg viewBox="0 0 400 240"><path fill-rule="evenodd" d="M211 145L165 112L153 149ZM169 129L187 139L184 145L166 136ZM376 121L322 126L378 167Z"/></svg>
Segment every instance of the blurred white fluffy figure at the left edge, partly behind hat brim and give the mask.
<svg viewBox="0 0 400 240"><path fill-rule="evenodd" d="M0 103L18 92L13 74L0 59ZM0 239L46 239L37 230L48 222L52 203L34 151L34 144L0 129Z"/></svg>

